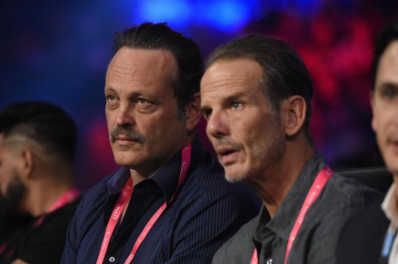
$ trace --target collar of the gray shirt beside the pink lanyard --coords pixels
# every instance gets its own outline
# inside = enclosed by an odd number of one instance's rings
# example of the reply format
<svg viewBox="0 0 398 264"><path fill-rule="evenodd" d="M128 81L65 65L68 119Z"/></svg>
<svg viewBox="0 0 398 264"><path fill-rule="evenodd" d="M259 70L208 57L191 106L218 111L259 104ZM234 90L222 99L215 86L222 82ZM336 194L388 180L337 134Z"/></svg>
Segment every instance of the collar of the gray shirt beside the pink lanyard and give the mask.
<svg viewBox="0 0 398 264"><path fill-rule="evenodd" d="M253 238L256 241L261 242L268 236L267 229L272 230L282 239L288 241L301 205L319 171L325 166L326 163L321 154L313 155L301 169L296 182L273 218L270 217L267 208L264 205L262 206L259 221L254 228Z"/></svg>

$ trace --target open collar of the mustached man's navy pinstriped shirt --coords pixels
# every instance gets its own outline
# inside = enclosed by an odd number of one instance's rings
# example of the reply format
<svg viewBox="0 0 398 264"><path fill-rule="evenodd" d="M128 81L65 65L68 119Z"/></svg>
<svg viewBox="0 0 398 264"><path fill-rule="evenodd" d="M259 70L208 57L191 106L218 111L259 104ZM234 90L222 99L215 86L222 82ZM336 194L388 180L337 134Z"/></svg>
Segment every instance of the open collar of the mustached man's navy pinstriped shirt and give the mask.
<svg viewBox="0 0 398 264"><path fill-rule="evenodd" d="M204 160L206 150L197 134L191 142L191 162L188 170L188 175L193 172L194 168ZM181 171L181 151L178 151L165 165L156 171L149 179L155 181L166 198L167 203L170 202L174 193L176 192ZM115 195L123 190L128 177L130 177L130 170L127 167L121 167L115 174L107 181L107 189L109 195Z"/></svg>

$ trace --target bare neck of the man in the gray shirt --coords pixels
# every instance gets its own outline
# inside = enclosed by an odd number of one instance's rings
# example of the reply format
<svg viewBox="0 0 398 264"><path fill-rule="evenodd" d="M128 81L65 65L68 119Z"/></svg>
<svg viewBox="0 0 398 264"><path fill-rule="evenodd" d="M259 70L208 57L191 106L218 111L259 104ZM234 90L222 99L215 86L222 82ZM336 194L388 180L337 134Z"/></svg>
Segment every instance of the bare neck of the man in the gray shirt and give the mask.
<svg viewBox="0 0 398 264"><path fill-rule="evenodd" d="M304 142L304 144L287 142L283 157L272 163L272 166L267 168L260 177L251 179L249 183L263 200L271 217L274 217L292 189L302 167L314 154L309 143Z"/></svg>

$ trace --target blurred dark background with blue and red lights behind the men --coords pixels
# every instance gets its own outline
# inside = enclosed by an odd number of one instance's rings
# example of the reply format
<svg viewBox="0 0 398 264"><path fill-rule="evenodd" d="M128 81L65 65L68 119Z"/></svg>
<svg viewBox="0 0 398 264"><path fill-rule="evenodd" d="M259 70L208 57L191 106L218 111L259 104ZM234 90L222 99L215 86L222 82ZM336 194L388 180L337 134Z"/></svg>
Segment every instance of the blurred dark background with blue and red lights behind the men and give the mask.
<svg viewBox="0 0 398 264"><path fill-rule="evenodd" d="M398 16L398 1L3 0L0 8L0 109L26 100L63 107L79 128L81 190L117 168L104 118L105 71L113 33L144 21L168 22L192 37L204 58L247 33L291 42L314 81L316 149L335 169L374 164L370 65L374 38Z"/></svg>

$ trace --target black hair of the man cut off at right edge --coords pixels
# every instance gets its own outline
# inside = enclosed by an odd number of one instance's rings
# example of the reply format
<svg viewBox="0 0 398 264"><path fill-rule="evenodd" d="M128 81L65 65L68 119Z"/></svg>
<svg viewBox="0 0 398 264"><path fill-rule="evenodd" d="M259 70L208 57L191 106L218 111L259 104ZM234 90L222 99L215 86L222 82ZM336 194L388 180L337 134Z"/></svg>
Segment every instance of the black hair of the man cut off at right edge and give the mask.
<svg viewBox="0 0 398 264"><path fill-rule="evenodd" d="M375 89L376 74L379 67L380 58L382 57L384 50L387 48L390 42L394 40L398 40L398 19L395 19L385 25L376 39L374 57L372 62L372 91Z"/></svg>

